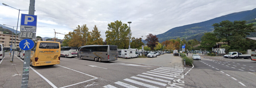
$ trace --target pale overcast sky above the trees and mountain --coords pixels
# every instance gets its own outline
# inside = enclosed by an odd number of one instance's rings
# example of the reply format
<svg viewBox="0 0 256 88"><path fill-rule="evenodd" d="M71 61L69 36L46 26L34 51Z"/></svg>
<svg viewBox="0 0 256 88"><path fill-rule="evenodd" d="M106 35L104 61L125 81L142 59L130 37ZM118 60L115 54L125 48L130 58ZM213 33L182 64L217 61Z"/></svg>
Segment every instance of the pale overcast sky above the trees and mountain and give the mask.
<svg viewBox="0 0 256 88"><path fill-rule="evenodd" d="M29 8L29 0L0 3L20 10ZM18 10L9 6L0 5L0 24L16 26ZM254 0L36 0L36 36L54 38L53 29L67 34L86 24L89 31L96 25L105 40L108 24L118 20L126 24L131 21L132 37L145 39L149 33L162 34L174 27L254 8ZM57 34L57 38L63 39L64 35Z"/></svg>

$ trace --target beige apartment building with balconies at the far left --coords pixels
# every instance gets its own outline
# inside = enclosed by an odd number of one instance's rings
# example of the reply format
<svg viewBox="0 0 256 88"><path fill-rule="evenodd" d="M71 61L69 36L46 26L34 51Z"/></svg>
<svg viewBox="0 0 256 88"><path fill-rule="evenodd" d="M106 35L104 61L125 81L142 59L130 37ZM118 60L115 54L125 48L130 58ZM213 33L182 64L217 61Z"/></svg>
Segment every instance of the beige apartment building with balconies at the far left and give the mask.
<svg viewBox="0 0 256 88"><path fill-rule="evenodd" d="M16 42L15 42L15 38L16 38ZM41 41L42 38L36 38L37 41ZM12 40L13 40L13 43L12 43ZM3 34L3 32L0 31L0 44L3 44L4 47L10 47L11 44L14 45L17 45L17 48L20 48L19 47L19 43L20 43L21 40L19 40L19 36L15 36L13 35L13 38L12 38L12 35L11 34Z"/></svg>

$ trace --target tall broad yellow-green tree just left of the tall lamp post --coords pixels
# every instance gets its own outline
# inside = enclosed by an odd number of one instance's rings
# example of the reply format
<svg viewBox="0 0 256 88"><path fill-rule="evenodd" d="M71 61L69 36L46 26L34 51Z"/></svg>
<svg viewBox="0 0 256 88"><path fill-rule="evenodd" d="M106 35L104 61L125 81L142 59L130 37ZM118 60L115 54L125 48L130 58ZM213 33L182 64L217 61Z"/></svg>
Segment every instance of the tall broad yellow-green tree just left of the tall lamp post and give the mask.
<svg viewBox="0 0 256 88"><path fill-rule="evenodd" d="M117 45L119 49L128 49L129 47L129 32L127 24L121 21L115 21L108 24L108 30L105 32L107 45Z"/></svg>

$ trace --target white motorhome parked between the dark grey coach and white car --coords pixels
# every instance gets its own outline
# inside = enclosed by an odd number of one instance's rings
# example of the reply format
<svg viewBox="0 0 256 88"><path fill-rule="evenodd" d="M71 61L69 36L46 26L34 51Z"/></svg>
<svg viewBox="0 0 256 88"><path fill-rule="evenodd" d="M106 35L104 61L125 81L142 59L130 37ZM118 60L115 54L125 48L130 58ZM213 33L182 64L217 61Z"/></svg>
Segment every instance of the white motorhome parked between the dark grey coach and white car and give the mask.
<svg viewBox="0 0 256 88"><path fill-rule="evenodd" d="M138 49L123 49L121 50L121 58L138 58L139 55L137 51Z"/></svg>

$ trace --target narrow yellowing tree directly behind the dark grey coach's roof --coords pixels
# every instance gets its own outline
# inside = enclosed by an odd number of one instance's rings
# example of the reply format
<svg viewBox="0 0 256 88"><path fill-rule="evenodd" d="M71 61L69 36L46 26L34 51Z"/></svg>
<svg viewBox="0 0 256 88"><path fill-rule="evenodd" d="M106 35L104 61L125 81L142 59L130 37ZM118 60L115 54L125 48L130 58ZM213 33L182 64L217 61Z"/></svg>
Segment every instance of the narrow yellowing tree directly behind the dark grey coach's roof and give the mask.
<svg viewBox="0 0 256 88"><path fill-rule="evenodd" d="M103 45L103 39L100 37L101 34L96 25L94 25L91 35L92 45Z"/></svg>

